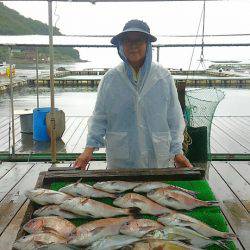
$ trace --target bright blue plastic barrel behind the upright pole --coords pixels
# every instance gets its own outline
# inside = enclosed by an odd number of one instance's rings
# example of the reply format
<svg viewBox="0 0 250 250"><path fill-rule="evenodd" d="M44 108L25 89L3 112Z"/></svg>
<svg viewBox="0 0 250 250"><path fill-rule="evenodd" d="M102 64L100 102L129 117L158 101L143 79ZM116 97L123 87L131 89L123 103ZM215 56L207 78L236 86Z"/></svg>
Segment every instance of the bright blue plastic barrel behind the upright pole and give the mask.
<svg viewBox="0 0 250 250"><path fill-rule="evenodd" d="M33 110L33 140L50 141L46 125L46 115L49 112L50 108L36 108Z"/></svg>

